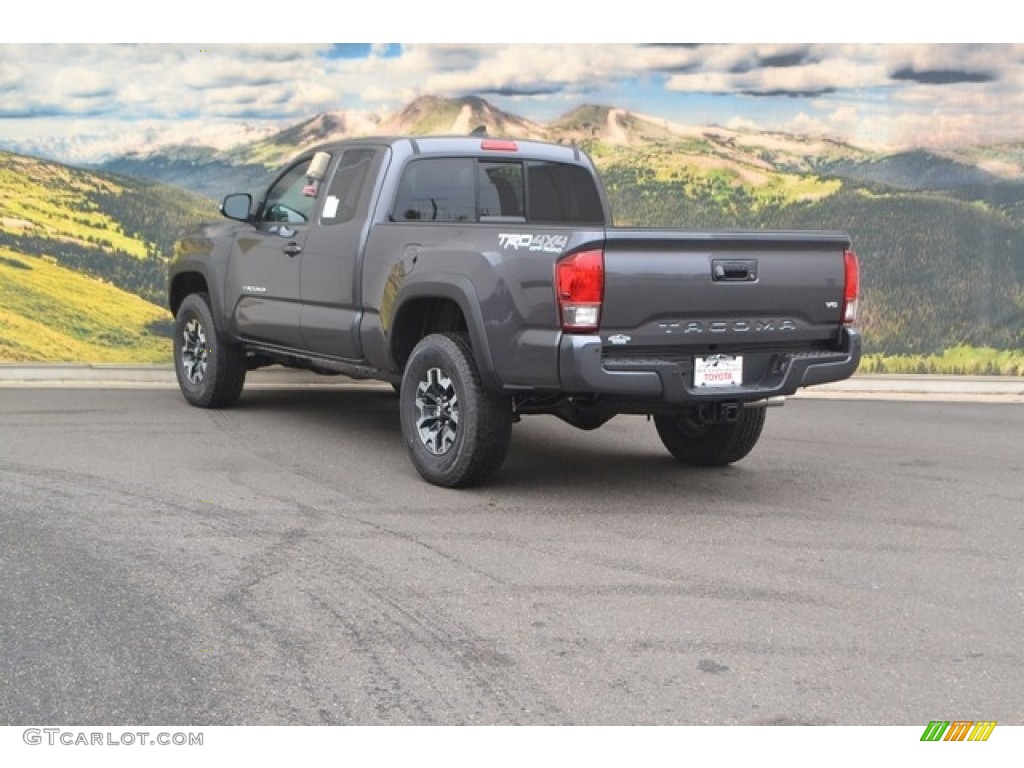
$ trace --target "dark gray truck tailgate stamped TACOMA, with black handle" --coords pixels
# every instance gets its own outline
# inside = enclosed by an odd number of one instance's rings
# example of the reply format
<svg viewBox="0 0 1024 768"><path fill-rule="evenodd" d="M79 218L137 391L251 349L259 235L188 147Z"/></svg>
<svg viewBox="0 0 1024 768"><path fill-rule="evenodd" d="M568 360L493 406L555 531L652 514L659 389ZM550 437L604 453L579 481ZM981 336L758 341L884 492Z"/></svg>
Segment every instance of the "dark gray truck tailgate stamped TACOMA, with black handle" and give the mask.
<svg viewBox="0 0 1024 768"><path fill-rule="evenodd" d="M601 337L633 350L835 341L849 246L831 231L608 229Z"/></svg>

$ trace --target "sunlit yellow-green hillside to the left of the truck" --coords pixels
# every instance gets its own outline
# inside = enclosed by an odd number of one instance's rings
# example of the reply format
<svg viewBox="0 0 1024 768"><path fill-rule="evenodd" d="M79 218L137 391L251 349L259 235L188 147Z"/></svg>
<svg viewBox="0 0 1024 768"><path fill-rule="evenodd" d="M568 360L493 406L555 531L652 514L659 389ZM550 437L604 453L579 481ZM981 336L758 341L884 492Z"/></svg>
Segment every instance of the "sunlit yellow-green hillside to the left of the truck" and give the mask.
<svg viewBox="0 0 1024 768"><path fill-rule="evenodd" d="M0 152L0 359L163 361L173 244L209 204Z"/></svg>

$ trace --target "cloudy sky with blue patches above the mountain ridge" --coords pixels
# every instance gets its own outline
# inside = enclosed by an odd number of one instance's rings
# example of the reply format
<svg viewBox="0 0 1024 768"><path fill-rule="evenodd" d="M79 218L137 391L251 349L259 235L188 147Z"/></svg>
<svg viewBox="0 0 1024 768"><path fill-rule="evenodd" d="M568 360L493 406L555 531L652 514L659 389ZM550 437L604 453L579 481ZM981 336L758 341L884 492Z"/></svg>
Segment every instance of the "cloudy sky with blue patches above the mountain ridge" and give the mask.
<svg viewBox="0 0 1024 768"><path fill-rule="evenodd" d="M1022 140L1024 45L0 43L0 146L86 161L225 145L424 94L476 94L542 122L601 103L876 146Z"/></svg>

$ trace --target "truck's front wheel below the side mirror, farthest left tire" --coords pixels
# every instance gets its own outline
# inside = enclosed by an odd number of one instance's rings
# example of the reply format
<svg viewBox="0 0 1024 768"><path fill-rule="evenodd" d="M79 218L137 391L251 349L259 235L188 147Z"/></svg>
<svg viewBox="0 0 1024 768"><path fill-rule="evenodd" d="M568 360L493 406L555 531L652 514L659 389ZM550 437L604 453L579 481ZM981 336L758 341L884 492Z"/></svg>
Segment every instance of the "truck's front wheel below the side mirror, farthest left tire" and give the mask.
<svg viewBox="0 0 1024 768"><path fill-rule="evenodd" d="M185 297L174 317L174 372L185 399L199 408L233 406L246 383L246 354L217 333L205 293Z"/></svg>

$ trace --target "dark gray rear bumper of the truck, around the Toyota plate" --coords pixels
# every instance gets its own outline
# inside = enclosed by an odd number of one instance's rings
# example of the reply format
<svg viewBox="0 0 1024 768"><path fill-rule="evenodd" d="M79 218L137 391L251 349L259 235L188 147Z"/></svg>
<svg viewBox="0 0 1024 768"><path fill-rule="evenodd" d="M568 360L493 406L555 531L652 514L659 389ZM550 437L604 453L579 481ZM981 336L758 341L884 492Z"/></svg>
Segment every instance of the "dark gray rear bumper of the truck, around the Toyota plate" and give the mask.
<svg viewBox="0 0 1024 768"><path fill-rule="evenodd" d="M572 393L608 394L657 402L685 403L715 400L751 402L794 394L801 387L841 381L860 365L861 340L844 329L838 349L799 352L740 351L744 356L741 386L693 386L693 356L628 355L606 358L599 336L564 335L559 346L562 389Z"/></svg>

